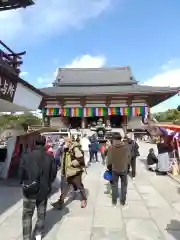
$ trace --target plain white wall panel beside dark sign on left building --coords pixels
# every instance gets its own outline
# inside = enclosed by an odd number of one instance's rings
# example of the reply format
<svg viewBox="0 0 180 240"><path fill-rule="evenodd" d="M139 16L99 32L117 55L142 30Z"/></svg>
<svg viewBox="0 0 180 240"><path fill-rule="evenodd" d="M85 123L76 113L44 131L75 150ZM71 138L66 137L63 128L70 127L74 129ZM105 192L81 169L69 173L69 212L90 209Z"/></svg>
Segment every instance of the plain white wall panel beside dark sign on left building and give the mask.
<svg viewBox="0 0 180 240"><path fill-rule="evenodd" d="M37 110L42 96L18 83L13 103L28 110Z"/></svg>

